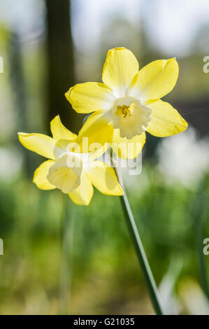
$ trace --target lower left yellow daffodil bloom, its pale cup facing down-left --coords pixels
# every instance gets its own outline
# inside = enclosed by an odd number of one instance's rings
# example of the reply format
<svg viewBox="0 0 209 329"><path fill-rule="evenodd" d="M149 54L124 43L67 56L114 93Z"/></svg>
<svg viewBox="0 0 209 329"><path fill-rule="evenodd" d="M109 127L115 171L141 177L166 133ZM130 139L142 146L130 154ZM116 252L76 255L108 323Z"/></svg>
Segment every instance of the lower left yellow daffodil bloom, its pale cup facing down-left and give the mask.
<svg viewBox="0 0 209 329"><path fill-rule="evenodd" d="M59 188L75 204L88 205L93 186L106 195L123 195L112 167L96 161L106 148L84 153L82 135L73 134L62 125L59 116L51 121L52 137L19 132L20 143L30 151L49 158L34 173L34 183L41 190Z"/></svg>

